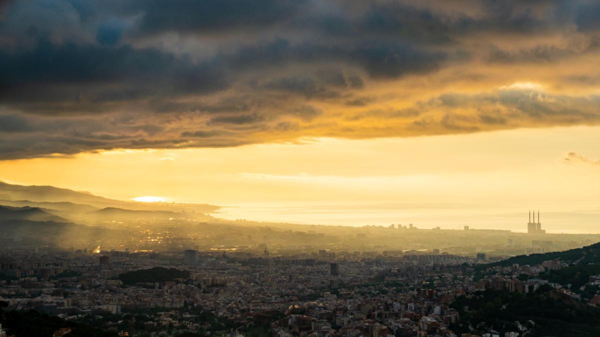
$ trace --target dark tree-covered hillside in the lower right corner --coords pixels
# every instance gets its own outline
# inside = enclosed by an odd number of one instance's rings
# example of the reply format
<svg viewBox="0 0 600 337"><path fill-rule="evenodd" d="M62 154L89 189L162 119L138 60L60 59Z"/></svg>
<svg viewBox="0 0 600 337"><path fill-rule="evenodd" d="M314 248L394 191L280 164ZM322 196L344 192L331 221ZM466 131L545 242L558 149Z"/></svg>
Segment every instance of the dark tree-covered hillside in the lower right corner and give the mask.
<svg viewBox="0 0 600 337"><path fill-rule="evenodd" d="M463 333L471 330L469 326L472 326L481 333L490 329L500 333L517 331L515 321L518 321L530 329L527 336L599 336L600 308L589 303L600 291L600 287L590 283L592 276L600 274L600 243L480 264L477 266L478 275L493 277L500 270L495 267L511 267L514 264L536 266L548 260L560 260L566 265L519 277L521 281L542 279L550 282L542 284L535 291L530 288L531 291L522 294L490 288L458 297L452 306L460 312L460 321L452 330ZM506 276L512 273L508 272ZM553 288L550 284L558 286ZM574 297L563 293L561 288L575 293Z"/></svg>

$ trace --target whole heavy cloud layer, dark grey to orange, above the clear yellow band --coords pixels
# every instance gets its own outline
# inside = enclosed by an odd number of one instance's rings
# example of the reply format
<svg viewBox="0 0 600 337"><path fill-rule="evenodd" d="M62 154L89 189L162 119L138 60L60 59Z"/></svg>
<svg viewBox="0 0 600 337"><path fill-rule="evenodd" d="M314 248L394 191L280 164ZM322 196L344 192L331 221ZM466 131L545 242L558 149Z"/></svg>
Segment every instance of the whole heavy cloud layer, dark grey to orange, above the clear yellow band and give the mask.
<svg viewBox="0 0 600 337"><path fill-rule="evenodd" d="M599 18L591 0L0 1L0 157L595 124L594 95L499 87L582 56L556 78L597 85Z"/></svg>

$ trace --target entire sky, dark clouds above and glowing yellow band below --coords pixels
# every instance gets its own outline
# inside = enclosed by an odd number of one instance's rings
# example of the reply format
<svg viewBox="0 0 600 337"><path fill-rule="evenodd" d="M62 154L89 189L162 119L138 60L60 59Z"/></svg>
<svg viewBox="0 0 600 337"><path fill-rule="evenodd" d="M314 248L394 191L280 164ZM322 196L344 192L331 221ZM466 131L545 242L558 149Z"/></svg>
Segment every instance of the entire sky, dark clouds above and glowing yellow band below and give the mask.
<svg viewBox="0 0 600 337"><path fill-rule="evenodd" d="M599 196L599 19L584 0L0 1L0 179L575 211Z"/></svg>

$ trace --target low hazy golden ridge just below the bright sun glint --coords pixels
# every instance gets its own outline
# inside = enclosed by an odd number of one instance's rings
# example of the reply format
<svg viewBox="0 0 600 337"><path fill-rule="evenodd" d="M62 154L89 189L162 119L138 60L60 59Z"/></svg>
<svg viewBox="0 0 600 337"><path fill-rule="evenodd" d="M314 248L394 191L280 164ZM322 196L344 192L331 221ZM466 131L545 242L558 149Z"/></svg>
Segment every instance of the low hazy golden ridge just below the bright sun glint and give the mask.
<svg viewBox="0 0 600 337"><path fill-rule="evenodd" d="M104 221L128 219L212 219L212 216L204 215L202 213L171 212L168 210L131 210L116 207L106 207L104 209L95 210L94 212L89 212L88 215L92 218Z"/></svg>

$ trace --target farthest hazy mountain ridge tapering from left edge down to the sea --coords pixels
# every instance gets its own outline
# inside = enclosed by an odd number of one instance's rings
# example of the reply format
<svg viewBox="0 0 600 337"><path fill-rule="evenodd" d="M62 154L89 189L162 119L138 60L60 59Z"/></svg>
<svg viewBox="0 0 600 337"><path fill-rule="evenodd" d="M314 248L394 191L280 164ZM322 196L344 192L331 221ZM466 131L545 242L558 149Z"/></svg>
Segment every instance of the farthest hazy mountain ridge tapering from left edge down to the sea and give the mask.
<svg viewBox="0 0 600 337"><path fill-rule="evenodd" d="M72 189L58 188L54 186L25 186L13 185L0 182L0 198L10 201L31 200L32 204L25 205L20 203L14 206L41 206L35 203L73 203L84 206L98 208L116 207L127 208L131 210L167 210L172 212L181 212L182 210L194 211L200 213L214 212L219 206L209 204L181 204L181 203L142 203L137 201L115 200L89 192L78 192ZM66 204L48 206L52 209L62 210L59 207L67 207ZM73 212L73 210L64 210ZM88 210L89 212L89 210Z"/></svg>

